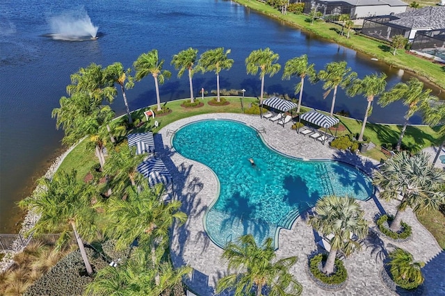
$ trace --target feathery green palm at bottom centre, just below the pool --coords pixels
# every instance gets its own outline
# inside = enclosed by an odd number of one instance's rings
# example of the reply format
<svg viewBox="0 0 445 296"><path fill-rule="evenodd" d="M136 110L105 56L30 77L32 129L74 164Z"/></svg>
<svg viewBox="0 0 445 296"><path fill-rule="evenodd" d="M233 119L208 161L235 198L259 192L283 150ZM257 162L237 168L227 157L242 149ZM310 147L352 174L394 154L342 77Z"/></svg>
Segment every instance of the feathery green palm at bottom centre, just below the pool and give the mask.
<svg viewBox="0 0 445 296"><path fill-rule="evenodd" d="M216 293L235 288L235 296L250 295L255 288L255 295L260 296L261 290L267 288L271 296L300 295L302 286L289 273L297 257L276 260L276 256L272 238L267 238L262 247L257 246L252 234L241 236L238 243L229 242L222 257L236 272L218 281Z"/></svg>

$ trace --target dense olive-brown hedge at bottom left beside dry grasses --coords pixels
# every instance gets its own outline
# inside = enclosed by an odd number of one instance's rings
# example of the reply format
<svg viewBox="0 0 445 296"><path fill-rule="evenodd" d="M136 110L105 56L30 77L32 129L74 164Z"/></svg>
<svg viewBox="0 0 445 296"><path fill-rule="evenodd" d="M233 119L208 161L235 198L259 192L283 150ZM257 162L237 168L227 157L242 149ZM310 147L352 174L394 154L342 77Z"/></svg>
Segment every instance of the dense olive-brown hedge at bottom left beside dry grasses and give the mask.
<svg viewBox="0 0 445 296"><path fill-rule="evenodd" d="M86 248L86 253L95 270L106 267L107 263L92 249ZM82 295L86 284L92 281L92 277L88 277L84 271L85 265L80 251L76 250L65 256L54 268L35 281L24 295Z"/></svg>

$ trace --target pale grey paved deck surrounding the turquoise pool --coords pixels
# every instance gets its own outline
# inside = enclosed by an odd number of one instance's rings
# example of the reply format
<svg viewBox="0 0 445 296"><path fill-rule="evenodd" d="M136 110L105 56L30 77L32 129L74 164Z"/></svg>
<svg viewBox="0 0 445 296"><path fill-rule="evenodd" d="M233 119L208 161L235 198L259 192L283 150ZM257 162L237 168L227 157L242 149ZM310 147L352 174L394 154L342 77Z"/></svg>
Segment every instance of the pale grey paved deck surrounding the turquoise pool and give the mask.
<svg viewBox="0 0 445 296"><path fill-rule="evenodd" d="M220 259L223 249L215 245L204 231L204 213L218 197L218 181L207 166L176 153L170 140L171 131L176 131L190 122L207 119L237 120L258 130L266 129L266 133L261 133L264 141L273 149L290 156L343 161L360 167L366 173L370 173L377 164L369 158L331 149L327 143L322 145L318 140L300 135L290 129L290 123L283 128L275 122L261 119L258 115L197 115L165 126L155 135L156 154L170 170L175 184L175 198L182 202L181 210L188 215L186 223L180 227L175 226L172 231L170 254L175 266L189 265L193 268L193 276L187 284L200 296L216 295L213 290L216 282L228 274L227 263ZM397 205L396 202L387 203L376 197L367 202L358 202L366 213L365 217L371 229L375 228L375 215L395 213ZM445 252L442 252L435 238L419 223L412 211L405 211L403 220L412 226L414 237L407 242L398 243L371 231L362 250L344 260L349 277L346 286L341 290L323 290L307 275L307 256L318 251L318 234L301 216L296 219L290 230L280 231L277 256L298 256L298 262L291 268L291 272L302 283L302 295L398 295L385 286L379 275L385 254L397 246L412 253L416 261L427 263L423 268L426 278L423 295L445 295Z"/></svg>

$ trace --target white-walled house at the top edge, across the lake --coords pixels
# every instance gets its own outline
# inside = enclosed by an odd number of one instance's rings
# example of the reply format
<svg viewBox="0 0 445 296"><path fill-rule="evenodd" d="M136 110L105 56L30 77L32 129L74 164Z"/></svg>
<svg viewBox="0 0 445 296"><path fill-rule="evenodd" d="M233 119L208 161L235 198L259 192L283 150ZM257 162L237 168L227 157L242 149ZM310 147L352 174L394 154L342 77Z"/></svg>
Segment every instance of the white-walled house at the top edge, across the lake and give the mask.
<svg viewBox="0 0 445 296"><path fill-rule="evenodd" d="M389 15L391 13L404 13L408 6L401 0L307 0L304 13L310 13L316 8L329 15L350 15L351 19L361 19L375 15Z"/></svg>

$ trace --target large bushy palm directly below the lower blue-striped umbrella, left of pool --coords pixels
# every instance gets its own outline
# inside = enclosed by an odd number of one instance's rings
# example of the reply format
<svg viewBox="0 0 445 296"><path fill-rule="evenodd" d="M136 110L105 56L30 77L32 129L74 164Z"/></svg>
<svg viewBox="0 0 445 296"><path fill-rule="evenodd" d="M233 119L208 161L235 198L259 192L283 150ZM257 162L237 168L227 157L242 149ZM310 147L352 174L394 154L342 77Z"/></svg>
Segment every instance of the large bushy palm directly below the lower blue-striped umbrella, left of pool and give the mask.
<svg viewBox="0 0 445 296"><path fill-rule="evenodd" d="M175 221L184 223L187 215L179 211L181 202L163 202L161 184L149 188L147 182L143 182L140 188L142 190L131 186L127 188L126 200L111 199L108 202L109 235L116 240L118 249L127 248L137 239L140 247L152 250L152 262L156 266L158 258L165 252L168 230Z"/></svg>

